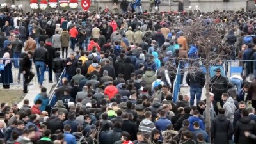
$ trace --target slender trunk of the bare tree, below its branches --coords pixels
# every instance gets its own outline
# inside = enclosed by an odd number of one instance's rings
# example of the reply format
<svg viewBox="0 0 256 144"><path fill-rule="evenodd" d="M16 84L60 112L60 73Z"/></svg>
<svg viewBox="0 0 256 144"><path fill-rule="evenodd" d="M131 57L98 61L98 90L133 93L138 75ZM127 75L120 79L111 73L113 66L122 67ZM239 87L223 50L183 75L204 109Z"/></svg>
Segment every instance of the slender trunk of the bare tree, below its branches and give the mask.
<svg viewBox="0 0 256 144"><path fill-rule="evenodd" d="M211 107L211 100L210 100L210 72L209 72L209 52L206 52L206 60L205 60L205 68L206 68L206 75L205 75L205 95L206 95L206 118L205 118L205 130L211 138L211 115L210 115L210 107ZM211 139L210 139L211 141Z"/></svg>

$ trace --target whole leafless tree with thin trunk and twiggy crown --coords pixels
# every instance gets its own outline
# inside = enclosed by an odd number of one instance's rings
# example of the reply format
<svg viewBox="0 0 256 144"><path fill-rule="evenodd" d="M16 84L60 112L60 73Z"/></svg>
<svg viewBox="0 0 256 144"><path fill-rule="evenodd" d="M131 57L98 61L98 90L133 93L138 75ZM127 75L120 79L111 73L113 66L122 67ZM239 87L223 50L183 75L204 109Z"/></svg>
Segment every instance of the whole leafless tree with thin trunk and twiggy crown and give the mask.
<svg viewBox="0 0 256 144"><path fill-rule="evenodd" d="M196 19L193 23L187 24L184 26L179 26L179 29L182 31L184 36L188 39L189 43L196 44L198 46L198 51L200 55L200 62L205 65L206 73L205 73L205 90L206 90L206 118L205 118L205 125L206 131L210 136L211 130L211 117L210 117L210 106L211 100L209 99L210 95L210 72L209 68L212 64L212 60L215 58L223 58L227 56L228 49L223 45L222 37L223 31L218 31L215 28L215 25L212 24L211 20L204 20L204 19ZM215 53L212 49L216 49ZM191 63L196 60L190 60ZM184 69L187 72L195 72L195 67L188 67ZM197 68L198 69L198 68Z"/></svg>

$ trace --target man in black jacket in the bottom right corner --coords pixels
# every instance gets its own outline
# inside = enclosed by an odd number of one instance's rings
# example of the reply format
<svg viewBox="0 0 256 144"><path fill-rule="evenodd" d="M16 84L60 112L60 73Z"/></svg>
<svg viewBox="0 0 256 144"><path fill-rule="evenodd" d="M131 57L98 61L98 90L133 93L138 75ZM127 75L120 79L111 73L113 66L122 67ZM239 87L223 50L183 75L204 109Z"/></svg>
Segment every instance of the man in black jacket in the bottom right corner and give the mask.
<svg viewBox="0 0 256 144"><path fill-rule="evenodd" d="M248 131L251 134L256 134L256 123L255 121L251 120L249 117L249 111L244 109L242 111L242 118L237 122L235 131L234 131L234 143L236 144L253 144L251 138L246 138L244 135L244 131Z"/></svg>

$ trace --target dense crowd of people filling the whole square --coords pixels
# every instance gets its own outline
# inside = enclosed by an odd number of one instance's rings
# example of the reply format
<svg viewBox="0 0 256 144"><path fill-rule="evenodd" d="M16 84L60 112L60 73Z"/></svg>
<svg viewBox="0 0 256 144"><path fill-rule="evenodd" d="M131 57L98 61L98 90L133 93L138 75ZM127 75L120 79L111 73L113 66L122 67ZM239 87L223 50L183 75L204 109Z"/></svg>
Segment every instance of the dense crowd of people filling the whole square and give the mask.
<svg viewBox="0 0 256 144"><path fill-rule="evenodd" d="M1 103L0 143L255 143L256 77L247 81L246 76L255 74L256 62L239 63L244 76L228 78L227 68L216 58L210 70L209 111L202 99L202 70L184 77L190 95L173 99L179 60L203 56L200 45L191 44L174 25L220 23L227 28L223 42L235 47L230 55L256 59L256 13L214 13L0 13L1 54L22 59L3 57L2 63L20 69L27 93L35 75L33 59L41 88L34 104L26 99L22 108ZM197 62L193 66L200 67ZM49 83L52 72L61 79L53 107L43 83L45 68Z"/></svg>

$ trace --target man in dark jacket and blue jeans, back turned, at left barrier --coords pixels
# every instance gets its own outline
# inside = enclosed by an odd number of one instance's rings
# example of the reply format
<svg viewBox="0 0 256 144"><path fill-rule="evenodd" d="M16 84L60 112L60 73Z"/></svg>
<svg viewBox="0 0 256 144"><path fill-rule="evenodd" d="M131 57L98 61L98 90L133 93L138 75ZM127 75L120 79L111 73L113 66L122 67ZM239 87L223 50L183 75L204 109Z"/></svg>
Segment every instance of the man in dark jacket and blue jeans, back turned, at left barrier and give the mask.
<svg viewBox="0 0 256 144"><path fill-rule="evenodd" d="M40 42L40 47L35 49L33 61L36 67L38 82L40 83L40 88L42 88L45 66L48 65L48 51L44 48L44 42Z"/></svg>

